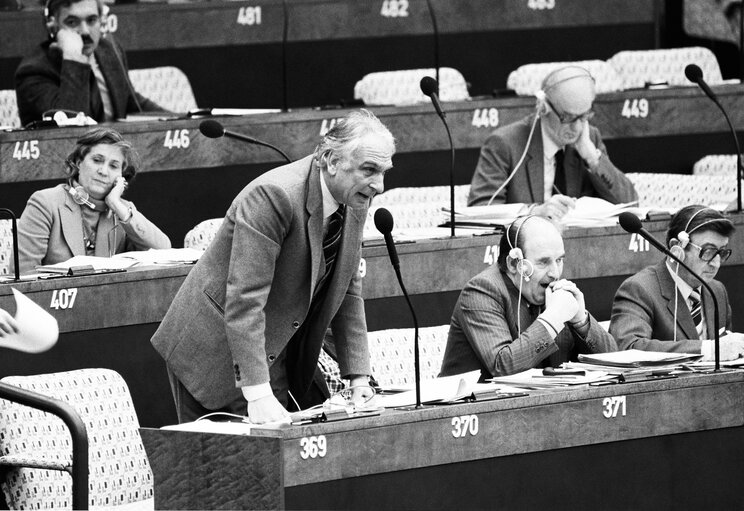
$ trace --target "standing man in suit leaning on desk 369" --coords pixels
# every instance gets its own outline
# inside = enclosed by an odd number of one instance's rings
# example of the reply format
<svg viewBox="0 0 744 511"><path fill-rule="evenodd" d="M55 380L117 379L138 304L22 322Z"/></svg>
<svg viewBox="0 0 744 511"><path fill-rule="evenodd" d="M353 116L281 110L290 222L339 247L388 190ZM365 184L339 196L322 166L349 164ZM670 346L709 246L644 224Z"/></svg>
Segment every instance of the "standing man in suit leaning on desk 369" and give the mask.
<svg viewBox="0 0 744 511"><path fill-rule="evenodd" d="M251 422L322 402L316 371L330 326L341 375L371 396L359 261L372 198L395 142L370 112L339 121L315 152L252 181L152 338L179 421L210 411Z"/></svg>

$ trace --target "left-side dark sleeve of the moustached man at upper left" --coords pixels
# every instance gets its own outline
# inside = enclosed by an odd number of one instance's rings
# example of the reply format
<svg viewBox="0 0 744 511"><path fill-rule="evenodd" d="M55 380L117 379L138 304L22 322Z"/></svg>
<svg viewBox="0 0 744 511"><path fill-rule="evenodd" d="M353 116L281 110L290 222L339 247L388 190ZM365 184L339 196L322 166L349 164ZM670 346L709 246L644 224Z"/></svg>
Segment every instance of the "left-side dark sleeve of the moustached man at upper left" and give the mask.
<svg viewBox="0 0 744 511"><path fill-rule="evenodd" d="M51 58L57 58L51 50ZM61 56L59 56L61 58ZM47 110L90 111L90 80L93 71L88 64L61 60L59 73L51 60L36 55L25 60L16 71L16 97L21 122L25 125L40 120Z"/></svg>

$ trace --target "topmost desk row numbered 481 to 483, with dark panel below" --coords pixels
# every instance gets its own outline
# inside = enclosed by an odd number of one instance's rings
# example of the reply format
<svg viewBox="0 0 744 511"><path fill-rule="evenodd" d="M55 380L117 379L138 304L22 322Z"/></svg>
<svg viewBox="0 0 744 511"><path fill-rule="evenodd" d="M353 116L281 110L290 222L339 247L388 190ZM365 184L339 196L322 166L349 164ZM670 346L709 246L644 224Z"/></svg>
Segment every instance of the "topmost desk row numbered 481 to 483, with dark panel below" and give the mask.
<svg viewBox="0 0 744 511"><path fill-rule="evenodd" d="M0 17L0 89L46 39L41 17ZM661 20L659 0L239 0L114 5L108 28L132 68L183 69L200 106L296 107L351 99L370 72L437 62L489 94L521 64L659 47Z"/></svg>

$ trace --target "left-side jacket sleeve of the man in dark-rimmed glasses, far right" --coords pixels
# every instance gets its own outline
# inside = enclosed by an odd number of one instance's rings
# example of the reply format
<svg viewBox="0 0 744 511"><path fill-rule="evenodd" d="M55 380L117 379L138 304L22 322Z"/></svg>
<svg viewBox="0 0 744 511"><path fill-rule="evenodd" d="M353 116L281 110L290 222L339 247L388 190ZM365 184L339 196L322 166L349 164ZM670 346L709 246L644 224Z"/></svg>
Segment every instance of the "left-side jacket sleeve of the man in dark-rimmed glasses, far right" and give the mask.
<svg viewBox="0 0 744 511"><path fill-rule="evenodd" d="M660 293L648 279L629 278L622 283L612 304L610 333L621 350L700 353L702 341L677 339L674 326L663 317ZM661 337L661 338L659 338Z"/></svg>

